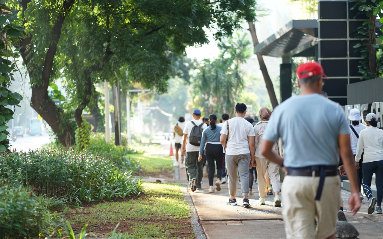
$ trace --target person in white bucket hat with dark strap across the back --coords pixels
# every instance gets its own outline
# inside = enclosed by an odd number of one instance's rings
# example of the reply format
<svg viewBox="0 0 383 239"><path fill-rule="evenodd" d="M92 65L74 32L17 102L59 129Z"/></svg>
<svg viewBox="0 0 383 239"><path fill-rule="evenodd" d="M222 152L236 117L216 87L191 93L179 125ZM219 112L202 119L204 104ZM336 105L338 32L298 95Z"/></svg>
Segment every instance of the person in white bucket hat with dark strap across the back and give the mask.
<svg viewBox="0 0 383 239"><path fill-rule="evenodd" d="M351 124L349 125L350 126L350 141L351 141L351 150L352 150L352 154L354 154L354 158L355 158L355 155L357 154L359 133L360 131L367 128L366 125L360 124L361 119L362 117L360 116L360 111L358 109L350 110L350 115L349 115L349 120L351 120ZM363 180L362 165L363 165L363 153L360 156L359 169L357 169L359 189L361 189L362 187L362 180ZM361 193L359 197L361 200L363 200L362 189L361 189Z"/></svg>

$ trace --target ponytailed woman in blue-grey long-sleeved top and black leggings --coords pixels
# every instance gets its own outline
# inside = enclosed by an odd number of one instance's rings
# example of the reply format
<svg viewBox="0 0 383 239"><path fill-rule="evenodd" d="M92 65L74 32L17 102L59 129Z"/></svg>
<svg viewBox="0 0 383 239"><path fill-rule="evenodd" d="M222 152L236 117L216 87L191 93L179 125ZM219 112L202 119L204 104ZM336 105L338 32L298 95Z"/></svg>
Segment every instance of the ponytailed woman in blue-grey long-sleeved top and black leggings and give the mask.
<svg viewBox="0 0 383 239"><path fill-rule="evenodd" d="M219 142L219 138L221 134L221 127L216 125L218 122L217 115L211 114L209 115L209 127L205 128L202 132L201 146L200 146L200 156L198 161L201 161L202 153L205 149L205 158L208 161L208 178L209 178L209 192L214 192L213 180L214 180L214 161L217 164L217 181L215 183L216 189L221 190L221 178L223 171L223 150L221 142Z"/></svg>

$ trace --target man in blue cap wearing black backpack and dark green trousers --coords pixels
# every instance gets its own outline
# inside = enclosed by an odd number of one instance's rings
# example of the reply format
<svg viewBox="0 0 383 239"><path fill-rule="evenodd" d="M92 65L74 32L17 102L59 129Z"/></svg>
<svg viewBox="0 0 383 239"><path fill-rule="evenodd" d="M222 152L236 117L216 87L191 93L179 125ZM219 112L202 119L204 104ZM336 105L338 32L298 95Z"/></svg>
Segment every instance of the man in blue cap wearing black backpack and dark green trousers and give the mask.
<svg viewBox="0 0 383 239"><path fill-rule="evenodd" d="M198 161L198 153L200 152L202 132L207 128L207 125L203 123L200 118L201 111L195 109L193 111L193 120L187 122L183 129L182 152L183 154L186 152L185 166L192 192L196 189L202 190L203 162Z"/></svg>

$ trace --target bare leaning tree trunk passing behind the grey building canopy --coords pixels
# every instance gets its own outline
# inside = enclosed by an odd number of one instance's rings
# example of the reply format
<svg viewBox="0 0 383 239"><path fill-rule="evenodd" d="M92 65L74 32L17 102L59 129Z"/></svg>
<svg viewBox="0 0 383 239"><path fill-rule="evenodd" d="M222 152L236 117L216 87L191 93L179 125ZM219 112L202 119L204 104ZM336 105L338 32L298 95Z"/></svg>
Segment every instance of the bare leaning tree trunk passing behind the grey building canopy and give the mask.
<svg viewBox="0 0 383 239"><path fill-rule="evenodd" d="M249 23L249 31L250 31L251 37L253 39L253 44L255 47L259 44L258 38L257 38L257 33L255 32L255 25L252 22L248 22L248 23ZM278 106L278 100L277 100L277 96L275 95L273 82L271 81L271 78L268 75L267 68L266 68L266 65L265 65L265 62L263 60L262 55L257 54L257 58L258 58L260 70L262 71L262 75L263 75L264 80L265 80L268 96L270 97L270 101L271 101L273 108L275 108Z"/></svg>

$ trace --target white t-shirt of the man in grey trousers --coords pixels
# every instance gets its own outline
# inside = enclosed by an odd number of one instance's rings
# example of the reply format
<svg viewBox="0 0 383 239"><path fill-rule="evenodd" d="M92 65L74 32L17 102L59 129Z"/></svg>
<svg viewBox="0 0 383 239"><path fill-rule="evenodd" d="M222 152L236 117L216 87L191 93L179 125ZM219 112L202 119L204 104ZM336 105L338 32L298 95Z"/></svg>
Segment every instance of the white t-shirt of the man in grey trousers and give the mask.
<svg viewBox="0 0 383 239"><path fill-rule="evenodd" d="M249 154L249 136L255 136L253 125L242 117L229 119L229 138L226 154ZM226 122L225 122L226 123ZM222 127L221 134L228 135L228 128Z"/></svg>

